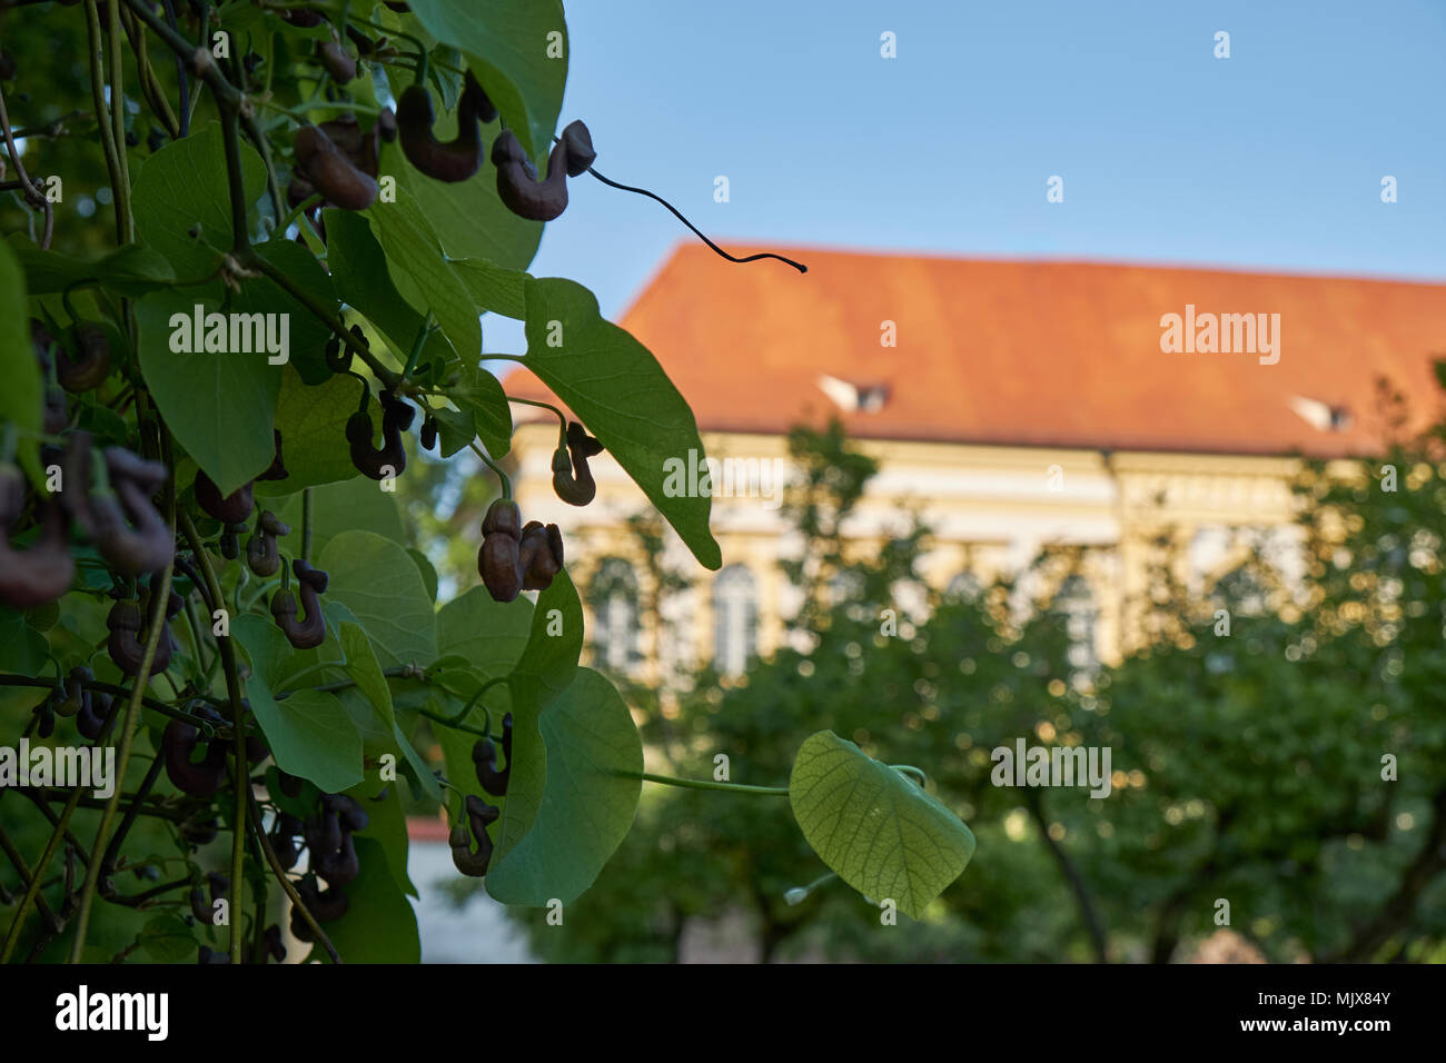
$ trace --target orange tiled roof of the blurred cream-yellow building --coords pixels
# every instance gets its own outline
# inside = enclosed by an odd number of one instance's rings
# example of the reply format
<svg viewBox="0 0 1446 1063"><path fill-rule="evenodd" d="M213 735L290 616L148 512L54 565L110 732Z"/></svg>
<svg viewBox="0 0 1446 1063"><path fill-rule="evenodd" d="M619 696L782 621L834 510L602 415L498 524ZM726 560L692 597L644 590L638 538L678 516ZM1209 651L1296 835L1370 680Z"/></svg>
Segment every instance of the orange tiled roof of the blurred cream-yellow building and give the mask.
<svg viewBox="0 0 1446 1063"><path fill-rule="evenodd" d="M842 415L856 437L1069 448L1339 456L1379 438L1378 376L1411 398L1419 418L1437 404L1432 357L1446 353L1446 285L784 253L808 273L681 246L620 323L704 431L821 422L840 412L823 376L886 389L872 412ZM1163 353L1161 315L1183 315L1186 304L1196 314L1280 314L1280 362ZM897 347L881 346L884 321L895 323ZM525 370L508 390L547 393ZM1299 399L1346 408L1348 427L1313 427L1293 408Z"/></svg>

